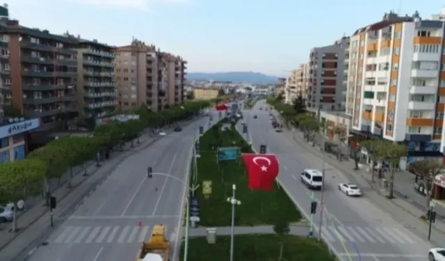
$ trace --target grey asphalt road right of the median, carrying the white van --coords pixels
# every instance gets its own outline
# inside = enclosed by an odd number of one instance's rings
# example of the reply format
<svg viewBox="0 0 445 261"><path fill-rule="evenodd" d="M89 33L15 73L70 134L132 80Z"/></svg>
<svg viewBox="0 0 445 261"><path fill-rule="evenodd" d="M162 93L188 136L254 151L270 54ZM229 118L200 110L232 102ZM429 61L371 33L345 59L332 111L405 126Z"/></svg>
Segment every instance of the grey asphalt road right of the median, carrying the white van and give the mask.
<svg viewBox="0 0 445 261"><path fill-rule="evenodd" d="M263 110L259 110L259 107L263 107ZM277 155L280 161L278 179L283 189L291 194L298 207L307 215L310 212L309 195L312 191L300 182L300 173L307 168L322 171L323 159L305 151L305 148L293 141L289 136L291 134L275 132L270 125L269 111L264 111L264 107L266 104L262 100L251 111L243 112L243 121L248 124L249 132L246 137L257 151L261 144L265 144L268 152ZM254 115L258 118L254 119ZM318 230L323 212L321 235L343 260L427 260L430 246L426 242L373 205L366 198L366 188L362 188L364 196L361 198L349 198L343 194L338 189L342 182L348 182L346 175L325 164L323 211L318 207L314 223ZM320 203L321 192L314 191L314 196Z"/></svg>

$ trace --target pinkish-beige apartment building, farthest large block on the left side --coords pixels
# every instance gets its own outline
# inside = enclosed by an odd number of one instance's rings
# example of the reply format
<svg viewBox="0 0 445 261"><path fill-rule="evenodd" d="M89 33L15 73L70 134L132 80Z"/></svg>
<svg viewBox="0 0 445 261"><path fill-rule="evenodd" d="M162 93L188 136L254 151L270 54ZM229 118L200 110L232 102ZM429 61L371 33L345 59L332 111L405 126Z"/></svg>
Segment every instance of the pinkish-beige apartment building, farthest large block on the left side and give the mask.
<svg viewBox="0 0 445 261"><path fill-rule="evenodd" d="M158 111L182 102L186 61L179 56L133 39L131 45L116 48L114 63L120 109L145 104Z"/></svg>

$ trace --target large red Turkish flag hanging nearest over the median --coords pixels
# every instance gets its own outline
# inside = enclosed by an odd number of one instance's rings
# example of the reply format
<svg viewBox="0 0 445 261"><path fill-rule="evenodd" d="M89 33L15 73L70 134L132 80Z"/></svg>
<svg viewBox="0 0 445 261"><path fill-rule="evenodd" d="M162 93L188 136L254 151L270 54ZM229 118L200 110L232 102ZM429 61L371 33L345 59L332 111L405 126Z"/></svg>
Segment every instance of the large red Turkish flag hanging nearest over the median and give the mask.
<svg viewBox="0 0 445 261"><path fill-rule="evenodd" d="M243 153L241 157L248 172L250 189L272 190L273 182L280 172L275 154Z"/></svg>

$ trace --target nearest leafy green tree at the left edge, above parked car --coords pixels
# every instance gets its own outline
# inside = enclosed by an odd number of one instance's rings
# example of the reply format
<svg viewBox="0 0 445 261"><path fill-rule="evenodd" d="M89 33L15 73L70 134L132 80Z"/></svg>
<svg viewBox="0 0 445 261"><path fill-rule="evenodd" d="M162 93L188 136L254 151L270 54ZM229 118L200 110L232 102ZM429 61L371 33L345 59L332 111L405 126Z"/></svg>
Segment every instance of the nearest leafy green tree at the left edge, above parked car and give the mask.
<svg viewBox="0 0 445 261"><path fill-rule="evenodd" d="M47 168L47 164L39 159L23 159L0 165L0 203L14 203L13 232L17 230L17 201L40 194Z"/></svg>

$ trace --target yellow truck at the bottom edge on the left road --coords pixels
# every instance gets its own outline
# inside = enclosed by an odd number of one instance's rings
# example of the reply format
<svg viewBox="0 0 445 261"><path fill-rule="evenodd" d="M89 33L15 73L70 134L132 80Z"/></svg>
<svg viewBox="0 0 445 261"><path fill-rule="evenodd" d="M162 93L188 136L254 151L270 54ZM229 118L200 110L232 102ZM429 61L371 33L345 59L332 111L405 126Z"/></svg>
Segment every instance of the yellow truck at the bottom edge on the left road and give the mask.
<svg viewBox="0 0 445 261"><path fill-rule="evenodd" d="M164 224L156 224L153 226L149 242L143 242L140 246L136 261L170 261L169 248L170 242L165 239Z"/></svg>

